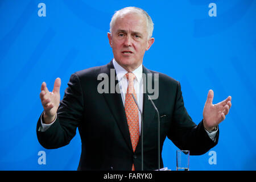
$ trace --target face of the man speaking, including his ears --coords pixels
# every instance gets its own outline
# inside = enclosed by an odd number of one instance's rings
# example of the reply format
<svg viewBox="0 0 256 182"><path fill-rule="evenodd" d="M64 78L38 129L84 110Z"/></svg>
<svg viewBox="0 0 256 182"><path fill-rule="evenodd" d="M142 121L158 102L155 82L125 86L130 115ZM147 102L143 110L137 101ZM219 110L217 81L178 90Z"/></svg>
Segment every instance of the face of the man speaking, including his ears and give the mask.
<svg viewBox="0 0 256 182"><path fill-rule="evenodd" d="M145 51L154 43L154 38L147 39L146 17L132 12L118 16L108 38L114 59L128 72L142 64Z"/></svg>

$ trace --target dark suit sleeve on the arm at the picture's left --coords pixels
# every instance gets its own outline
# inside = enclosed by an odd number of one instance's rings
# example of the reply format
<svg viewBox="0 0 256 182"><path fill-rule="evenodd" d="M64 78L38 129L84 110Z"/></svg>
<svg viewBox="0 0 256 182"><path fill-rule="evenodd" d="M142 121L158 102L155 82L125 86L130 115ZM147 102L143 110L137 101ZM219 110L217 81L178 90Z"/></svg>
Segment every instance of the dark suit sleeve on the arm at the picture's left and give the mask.
<svg viewBox="0 0 256 182"><path fill-rule="evenodd" d="M68 82L63 100L57 110L56 121L44 132L39 131L40 118L36 126L39 143L44 148L59 148L67 145L76 135L83 117L83 94L79 77L74 73Z"/></svg>

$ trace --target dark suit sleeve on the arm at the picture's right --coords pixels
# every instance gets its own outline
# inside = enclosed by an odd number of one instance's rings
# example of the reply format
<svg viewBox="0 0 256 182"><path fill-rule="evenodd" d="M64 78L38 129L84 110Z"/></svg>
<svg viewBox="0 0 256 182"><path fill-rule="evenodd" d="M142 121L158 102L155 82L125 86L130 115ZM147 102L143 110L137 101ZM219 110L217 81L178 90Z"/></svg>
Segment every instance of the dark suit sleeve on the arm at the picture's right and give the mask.
<svg viewBox="0 0 256 182"><path fill-rule="evenodd" d="M204 129L203 121L196 125L187 110L184 107L183 96L180 83L177 82L176 98L172 124L168 132L168 138L180 148L180 150L189 150L191 155L201 155L216 146L218 142L218 133L216 142L210 139Z"/></svg>

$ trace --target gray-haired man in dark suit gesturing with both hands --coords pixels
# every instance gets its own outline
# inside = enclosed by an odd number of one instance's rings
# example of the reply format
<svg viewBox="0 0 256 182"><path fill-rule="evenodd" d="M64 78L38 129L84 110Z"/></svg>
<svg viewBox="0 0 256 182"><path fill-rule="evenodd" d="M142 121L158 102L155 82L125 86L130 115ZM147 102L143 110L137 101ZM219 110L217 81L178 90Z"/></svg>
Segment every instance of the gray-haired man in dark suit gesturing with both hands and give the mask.
<svg viewBox="0 0 256 182"><path fill-rule="evenodd" d="M181 150L201 155L218 142L218 124L231 107L231 97L212 104L209 90L203 121L195 125L183 103L178 81L150 71L143 63L144 52L154 43L153 23L146 11L126 7L117 11L110 22L109 44L114 59L109 64L74 73L60 102L60 78L52 92L43 82L40 98L44 111L39 118L37 135L46 148L65 146L75 136L77 127L82 142L81 170L141 170L141 122L137 105L143 113L143 165L146 170L158 168L158 117L148 100L149 74L157 78L158 97L154 100L160 115L160 151L166 137ZM126 92L99 92L99 75L112 77L116 88ZM142 75L146 75L143 77ZM111 86L110 80L106 89ZM154 84L154 82L152 83ZM138 90L143 90L139 92ZM163 167L162 157L160 167Z"/></svg>

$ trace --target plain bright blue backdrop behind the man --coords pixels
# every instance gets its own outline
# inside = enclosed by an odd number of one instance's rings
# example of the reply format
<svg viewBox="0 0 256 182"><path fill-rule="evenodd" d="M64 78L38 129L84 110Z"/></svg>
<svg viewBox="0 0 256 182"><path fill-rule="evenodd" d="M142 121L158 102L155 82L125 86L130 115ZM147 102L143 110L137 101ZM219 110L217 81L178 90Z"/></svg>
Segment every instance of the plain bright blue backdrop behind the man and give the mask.
<svg viewBox="0 0 256 182"><path fill-rule="evenodd" d="M46 17L38 4L46 4ZM217 5L210 17L209 3ZM76 170L79 134L68 146L46 150L36 138L43 111L40 85L61 78L61 98L72 73L113 58L107 32L115 10L137 6L151 16L155 43L144 56L148 69L181 82L185 107L195 123L203 118L209 89L216 104L232 96L220 124L217 164L209 152L191 156L191 170L256 169L256 2L213 1L0 1L0 169ZM166 139L164 166L175 170L176 146ZM46 164L38 164L38 152Z"/></svg>

